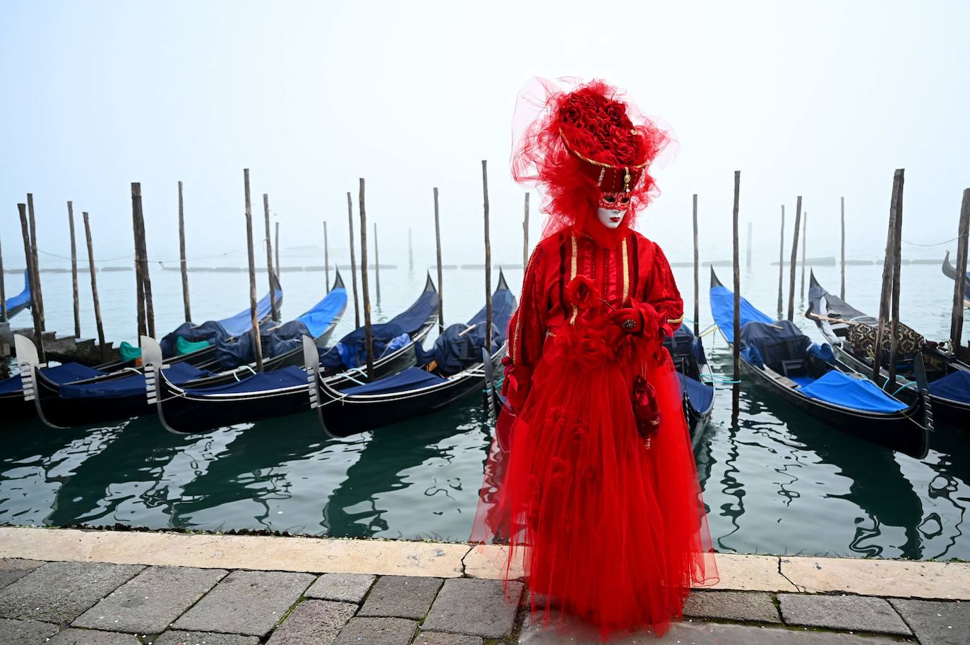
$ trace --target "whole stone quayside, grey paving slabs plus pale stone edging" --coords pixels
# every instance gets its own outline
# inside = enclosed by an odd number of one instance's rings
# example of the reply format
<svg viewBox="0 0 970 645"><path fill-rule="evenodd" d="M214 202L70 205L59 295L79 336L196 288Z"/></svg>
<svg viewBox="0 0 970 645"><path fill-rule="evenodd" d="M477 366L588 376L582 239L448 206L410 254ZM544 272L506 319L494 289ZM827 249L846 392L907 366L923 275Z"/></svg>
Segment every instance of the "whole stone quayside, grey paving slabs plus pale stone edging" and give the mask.
<svg viewBox="0 0 970 645"><path fill-rule="evenodd" d="M684 622L613 642L970 643L967 564L717 560L721 583ZM0 645L599 642L569 618L534 624L503 563L501 547L464 544L0 529Z"/></svg>

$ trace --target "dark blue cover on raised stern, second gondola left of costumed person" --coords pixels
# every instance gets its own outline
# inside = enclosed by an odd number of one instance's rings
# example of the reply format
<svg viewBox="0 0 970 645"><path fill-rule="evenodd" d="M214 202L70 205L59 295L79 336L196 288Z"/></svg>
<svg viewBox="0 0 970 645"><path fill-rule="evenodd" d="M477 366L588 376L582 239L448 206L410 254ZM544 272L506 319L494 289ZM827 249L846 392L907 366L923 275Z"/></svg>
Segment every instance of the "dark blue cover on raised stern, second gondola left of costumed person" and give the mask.
<svg viewBox="0 0 970 645"><path fill-rule="evenodd" d="M407 337L404 344L418 333L437 309L437 292L424 291L406 310L386 323L372 325L373 355L384 356L400 349L400 338ZM327 372L352 370L367 362L366 332L358 327L333 346L320 351L320 367Z"/></svg>

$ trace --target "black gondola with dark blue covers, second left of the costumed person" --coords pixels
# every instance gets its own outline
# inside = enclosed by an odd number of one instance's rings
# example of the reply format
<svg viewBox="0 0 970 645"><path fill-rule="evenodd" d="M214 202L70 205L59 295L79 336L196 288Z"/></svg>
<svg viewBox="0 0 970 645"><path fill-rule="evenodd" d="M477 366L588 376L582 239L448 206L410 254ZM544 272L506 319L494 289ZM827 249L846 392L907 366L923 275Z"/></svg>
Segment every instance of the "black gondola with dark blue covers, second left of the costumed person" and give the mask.
<svg viewBox="0 0 970 645"><path fill-rule="evenodd" d="M424 290L411 306L387 323L373 326L375 339L394 337L381 343L383 351L374 362L376 377L414 365L415 342L427 337L436 322L437 290L429 275ZM303 368L291 365L214 387L194 387L194 384L193 387L179 387L172 383L165 371L156 369L162 364L158 343L144 339L146 365L149 366L147 401L156 406L162 426L178 434L207 432L307 410L313 391L308 374L323 372L331 383L338 385L358 382L359 367L345 367L339 371L336 362L342 355L347 362L353 363L352 359L357 357L363 345L363 332L363 328L354 330L325 350L304 338L300 349ZM387 336L383 336L384 333ZM321 361L321 357L325 357L330 367Z"/></svg>

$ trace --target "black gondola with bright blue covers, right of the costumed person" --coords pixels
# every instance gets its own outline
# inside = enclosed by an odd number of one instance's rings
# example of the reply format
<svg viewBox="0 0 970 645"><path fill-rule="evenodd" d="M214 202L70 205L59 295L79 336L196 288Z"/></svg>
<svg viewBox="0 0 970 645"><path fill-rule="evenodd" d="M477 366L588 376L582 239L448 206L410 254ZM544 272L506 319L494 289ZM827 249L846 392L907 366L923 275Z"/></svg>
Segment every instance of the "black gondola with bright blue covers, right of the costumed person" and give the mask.
<svg viewBox="0 0 970 645"><path fill-rule="evenodd" d="M734 342L734 295L711 270L711 311ZM774 320L741 299L741 369L783 402L850 435L917 459L929 450L932 408L925 393L907 405L817 345L791 321ZM918 372L921 361L918 362Z"/></svg>

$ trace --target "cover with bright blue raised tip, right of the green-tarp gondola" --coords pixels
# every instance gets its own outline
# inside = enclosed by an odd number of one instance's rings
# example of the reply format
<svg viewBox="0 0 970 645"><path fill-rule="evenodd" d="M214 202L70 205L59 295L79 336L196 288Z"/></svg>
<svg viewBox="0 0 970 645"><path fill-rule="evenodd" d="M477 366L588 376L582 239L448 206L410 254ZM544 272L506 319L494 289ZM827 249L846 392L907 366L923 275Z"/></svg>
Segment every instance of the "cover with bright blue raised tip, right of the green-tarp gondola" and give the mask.
<svg viewBox="0 0 970 645"><path fill-rule="evenodd" d="M263 347L263 357L282 356L301 347L304 336L311 339L319 338L346 306L347 290L338 287L331 289L323 300L295 320L282 325L273 320L260 323L259 339ZM253 349L252 331L249 330L236 338L216 342L215 357L223 370L232 370L254 362L256 354Z"/></svg>

